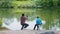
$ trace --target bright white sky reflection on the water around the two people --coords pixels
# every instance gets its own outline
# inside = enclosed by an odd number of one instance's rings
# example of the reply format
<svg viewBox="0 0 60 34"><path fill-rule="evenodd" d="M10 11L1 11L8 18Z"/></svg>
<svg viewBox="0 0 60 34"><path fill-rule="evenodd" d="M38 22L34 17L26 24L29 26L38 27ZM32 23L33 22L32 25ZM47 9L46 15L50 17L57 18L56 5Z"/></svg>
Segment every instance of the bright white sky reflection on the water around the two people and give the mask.
<svg viewBox="0 0 60 34"><path fill-rule="evenodd" d="M5 22L5 21L7 21L8 23ZM26 29L30 29L30 30L33 30L33 27L36 24L35 20L33 20L33 21L26 21L26 23L29 24L29 26ZM45 21L42 21L42 23L44 25ZM13 18L13 19L10 19L10 20L5 18L5 19L3 19L2 27L6 27L6 28L8 28L10 30L20 30L21 29L21 24L20 24L20 21L18 22L16 18ZM42 27L40 27L40 29L41 28Z"/></svg>

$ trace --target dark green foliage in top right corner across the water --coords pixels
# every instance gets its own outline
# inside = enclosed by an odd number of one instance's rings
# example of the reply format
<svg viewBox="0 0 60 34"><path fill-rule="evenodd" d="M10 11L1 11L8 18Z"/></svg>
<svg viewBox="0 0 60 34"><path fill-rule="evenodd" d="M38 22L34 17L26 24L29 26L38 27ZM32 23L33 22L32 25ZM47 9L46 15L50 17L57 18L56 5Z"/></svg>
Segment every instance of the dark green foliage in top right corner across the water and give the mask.
<svg viewBox="0 0 60 34"><path fill-rule="evenodd" d="M56 7L60 6L59 0L37 0L36 1L37 6L42 6L42 7Z"/></svg>

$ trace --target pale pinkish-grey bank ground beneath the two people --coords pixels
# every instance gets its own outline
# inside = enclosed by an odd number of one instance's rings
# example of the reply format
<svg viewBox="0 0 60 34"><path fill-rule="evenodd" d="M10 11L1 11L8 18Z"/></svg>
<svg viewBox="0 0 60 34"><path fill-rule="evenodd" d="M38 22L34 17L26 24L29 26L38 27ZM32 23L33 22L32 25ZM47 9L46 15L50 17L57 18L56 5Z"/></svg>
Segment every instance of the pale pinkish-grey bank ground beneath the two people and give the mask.
<svg viewBox="0 0 60 34"><path fill-rule="evenodd" d="M60 31L37 31L37 30L4 30L0 31L0 34L60 34Z"/></svg>

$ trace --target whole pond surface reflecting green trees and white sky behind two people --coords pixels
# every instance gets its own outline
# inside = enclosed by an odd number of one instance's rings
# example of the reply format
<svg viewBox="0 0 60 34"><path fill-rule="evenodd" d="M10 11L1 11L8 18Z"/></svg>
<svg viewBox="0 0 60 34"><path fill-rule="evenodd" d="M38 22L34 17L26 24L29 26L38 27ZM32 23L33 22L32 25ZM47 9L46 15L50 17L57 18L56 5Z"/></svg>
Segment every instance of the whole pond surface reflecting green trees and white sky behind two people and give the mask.
<svg viewBox="0 0 60 34"><path fill-rule="evenodd" d="M33 29L37 15L40 16L43 22L41 30L60 29L59 9L2 8L0 9L0 18L2 18L3 26L11 30L19 30L21 28L20 17L22 13L25 13L25 15L28 16L26 23L30 24L30 26L27 29Z"/></svg>

